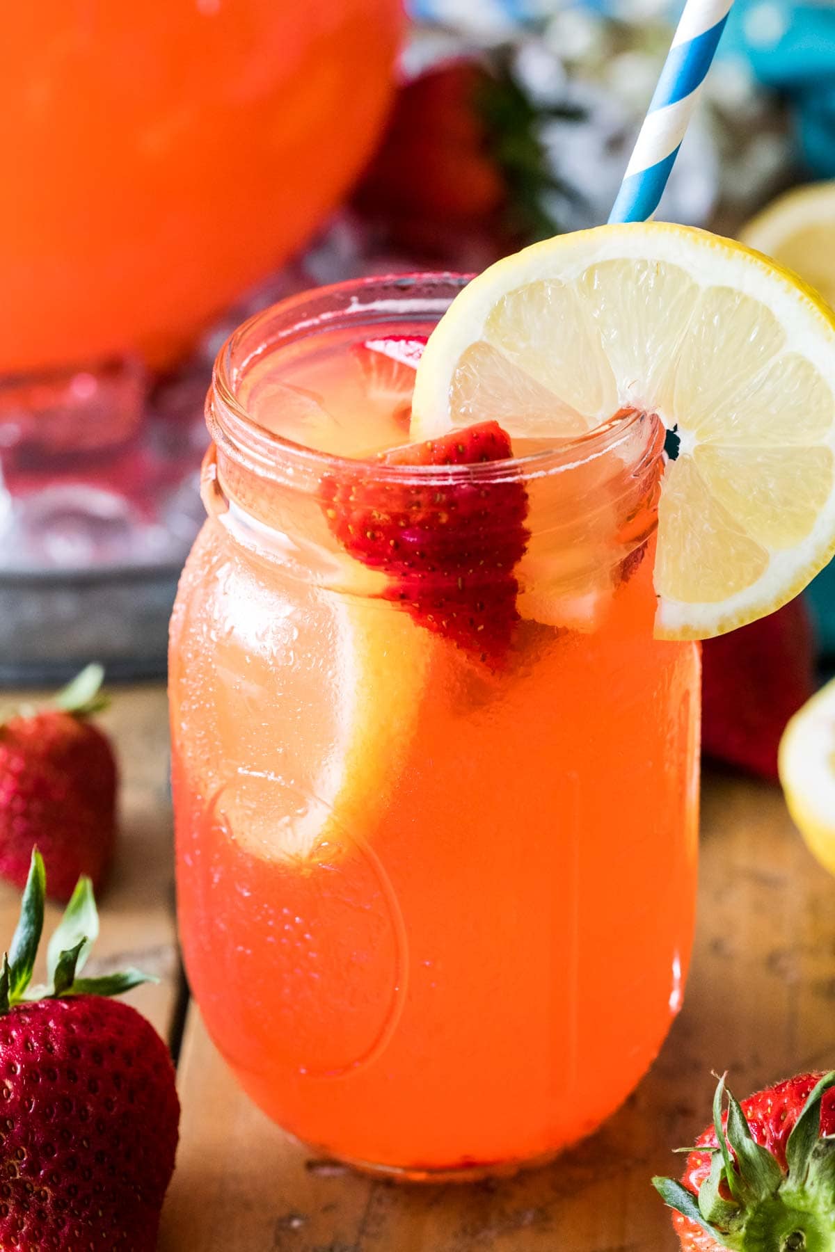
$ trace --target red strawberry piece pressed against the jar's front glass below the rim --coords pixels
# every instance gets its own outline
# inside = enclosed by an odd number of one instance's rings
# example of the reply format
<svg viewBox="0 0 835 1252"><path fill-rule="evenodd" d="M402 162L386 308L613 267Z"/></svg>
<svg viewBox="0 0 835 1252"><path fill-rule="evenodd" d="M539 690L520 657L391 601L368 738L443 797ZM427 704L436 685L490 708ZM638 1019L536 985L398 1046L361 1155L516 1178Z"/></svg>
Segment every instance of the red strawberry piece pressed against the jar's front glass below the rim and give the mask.
<svg viewBox="0 0 835 1252"><path fill-rule="evenodd" d="M497 422L381 453L393 466L467 466L512 456ZM427 630L491 666L501 664L518 620L513 567L528 532L521 482L458 473L381 483L368 473L323 482L333 535L358 561L389 576L386 597Z"/></svg>

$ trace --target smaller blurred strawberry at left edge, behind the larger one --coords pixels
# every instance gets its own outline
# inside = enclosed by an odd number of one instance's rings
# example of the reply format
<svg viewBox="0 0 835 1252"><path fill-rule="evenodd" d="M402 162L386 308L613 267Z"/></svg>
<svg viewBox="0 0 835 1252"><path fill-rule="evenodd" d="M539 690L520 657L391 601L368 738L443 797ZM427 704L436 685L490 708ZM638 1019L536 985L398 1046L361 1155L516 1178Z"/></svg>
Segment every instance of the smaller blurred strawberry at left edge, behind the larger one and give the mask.
<svg viewBox="0 0 835 1252"><path fill-rule="evenodd" d="M0 876L26 883L38 846L49 891L68 900L79 876L101 885L116 834L116 762L89 720L106 704L89 665L45 707L0 722Z"/></svg>

